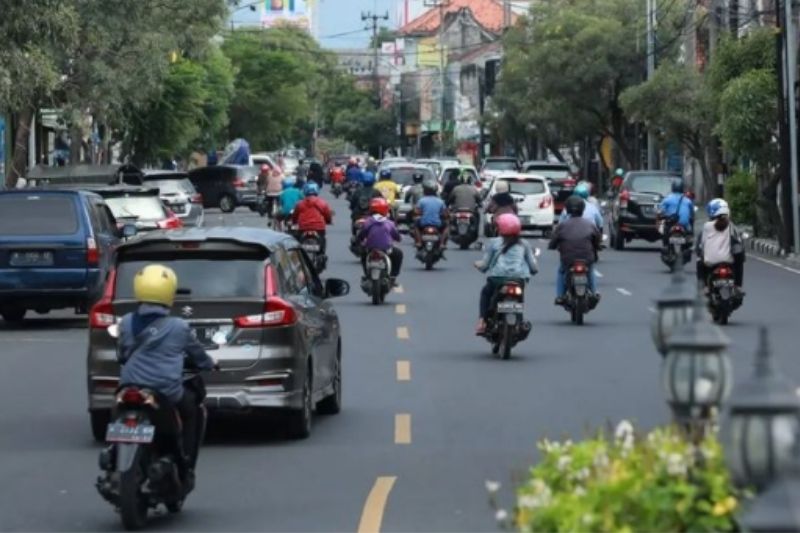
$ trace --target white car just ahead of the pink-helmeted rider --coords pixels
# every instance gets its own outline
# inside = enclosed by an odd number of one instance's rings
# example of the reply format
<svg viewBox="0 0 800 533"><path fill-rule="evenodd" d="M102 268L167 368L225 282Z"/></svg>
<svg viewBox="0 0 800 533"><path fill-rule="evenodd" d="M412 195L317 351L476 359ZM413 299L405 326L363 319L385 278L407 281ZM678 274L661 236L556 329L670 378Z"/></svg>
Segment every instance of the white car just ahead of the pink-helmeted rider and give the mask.
<svg viewBox="0 0 800 533"><path fill-rule="evenodd" d="M553 195L547 178L536 174L504 173L495 177L489 189L487 202L494 196L500 181L508 183L511 196L517 202L517 209L523 232L540 231L545 238L553 231ZM492 216L486 215L485 230L492 227ZM491 231L487 235L492 234Z"/></svg>

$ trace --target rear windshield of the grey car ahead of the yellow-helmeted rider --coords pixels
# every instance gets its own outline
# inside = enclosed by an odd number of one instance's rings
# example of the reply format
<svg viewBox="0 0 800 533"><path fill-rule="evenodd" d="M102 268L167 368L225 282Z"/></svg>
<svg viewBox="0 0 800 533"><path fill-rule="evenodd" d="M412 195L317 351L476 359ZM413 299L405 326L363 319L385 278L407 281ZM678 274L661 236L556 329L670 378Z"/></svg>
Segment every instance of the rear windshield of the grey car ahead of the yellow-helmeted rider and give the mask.
<svg viewBox="0 0 800 533"><path fill-rule="evenodd" d="M115 296L133 299L133 277L158 261L175 271L178 288L188 289L187 299L258 298L264 295L264 261L236 259L229 254L199 254L186 259L148 258L120 263Z"/></svg>

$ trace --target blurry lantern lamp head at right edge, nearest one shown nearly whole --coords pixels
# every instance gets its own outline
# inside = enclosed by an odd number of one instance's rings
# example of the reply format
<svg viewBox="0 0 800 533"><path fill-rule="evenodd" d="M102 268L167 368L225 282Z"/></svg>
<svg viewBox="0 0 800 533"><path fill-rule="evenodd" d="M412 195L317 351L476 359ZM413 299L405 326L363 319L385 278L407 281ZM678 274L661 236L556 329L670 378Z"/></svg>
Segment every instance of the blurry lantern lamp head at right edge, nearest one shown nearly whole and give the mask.
<svg viewBox="0 0 800 533"><path fill-rule="evenodd" d="M795 387L771 362L767 328L762 327L754 375L731 396L726 438L734 480L762 490L791 462L800 431Z"/></svg>

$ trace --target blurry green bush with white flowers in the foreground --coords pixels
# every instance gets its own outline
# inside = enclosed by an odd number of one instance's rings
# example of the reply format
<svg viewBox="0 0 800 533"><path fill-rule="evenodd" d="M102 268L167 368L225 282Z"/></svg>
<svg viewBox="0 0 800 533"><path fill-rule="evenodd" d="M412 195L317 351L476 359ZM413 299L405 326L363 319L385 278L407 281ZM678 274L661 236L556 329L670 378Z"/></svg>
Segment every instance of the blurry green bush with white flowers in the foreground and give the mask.
<svg viewBox="0 0 800 533"><path fill-rule="evenodd" d="M517 489L520 531L731 531L737 493L714 435L699 445L674 428L638 439L542 441L541 462Z"/></svg>

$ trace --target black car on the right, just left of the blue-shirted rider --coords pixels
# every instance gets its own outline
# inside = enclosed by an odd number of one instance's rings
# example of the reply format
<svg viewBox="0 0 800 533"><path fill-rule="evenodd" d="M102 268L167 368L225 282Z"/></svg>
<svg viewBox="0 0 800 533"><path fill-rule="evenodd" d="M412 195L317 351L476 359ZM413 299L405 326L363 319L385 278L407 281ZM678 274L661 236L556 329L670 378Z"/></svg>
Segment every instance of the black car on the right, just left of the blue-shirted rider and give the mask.
<svg viewBox="0 0 800 533"><path fill-rule="evenodd" d="M656 214L661 200L672 191L680 175L666 171L634 171L625 174L619 193L611 200L611 246L623 250L633 239L661 239Z"/></svg>

